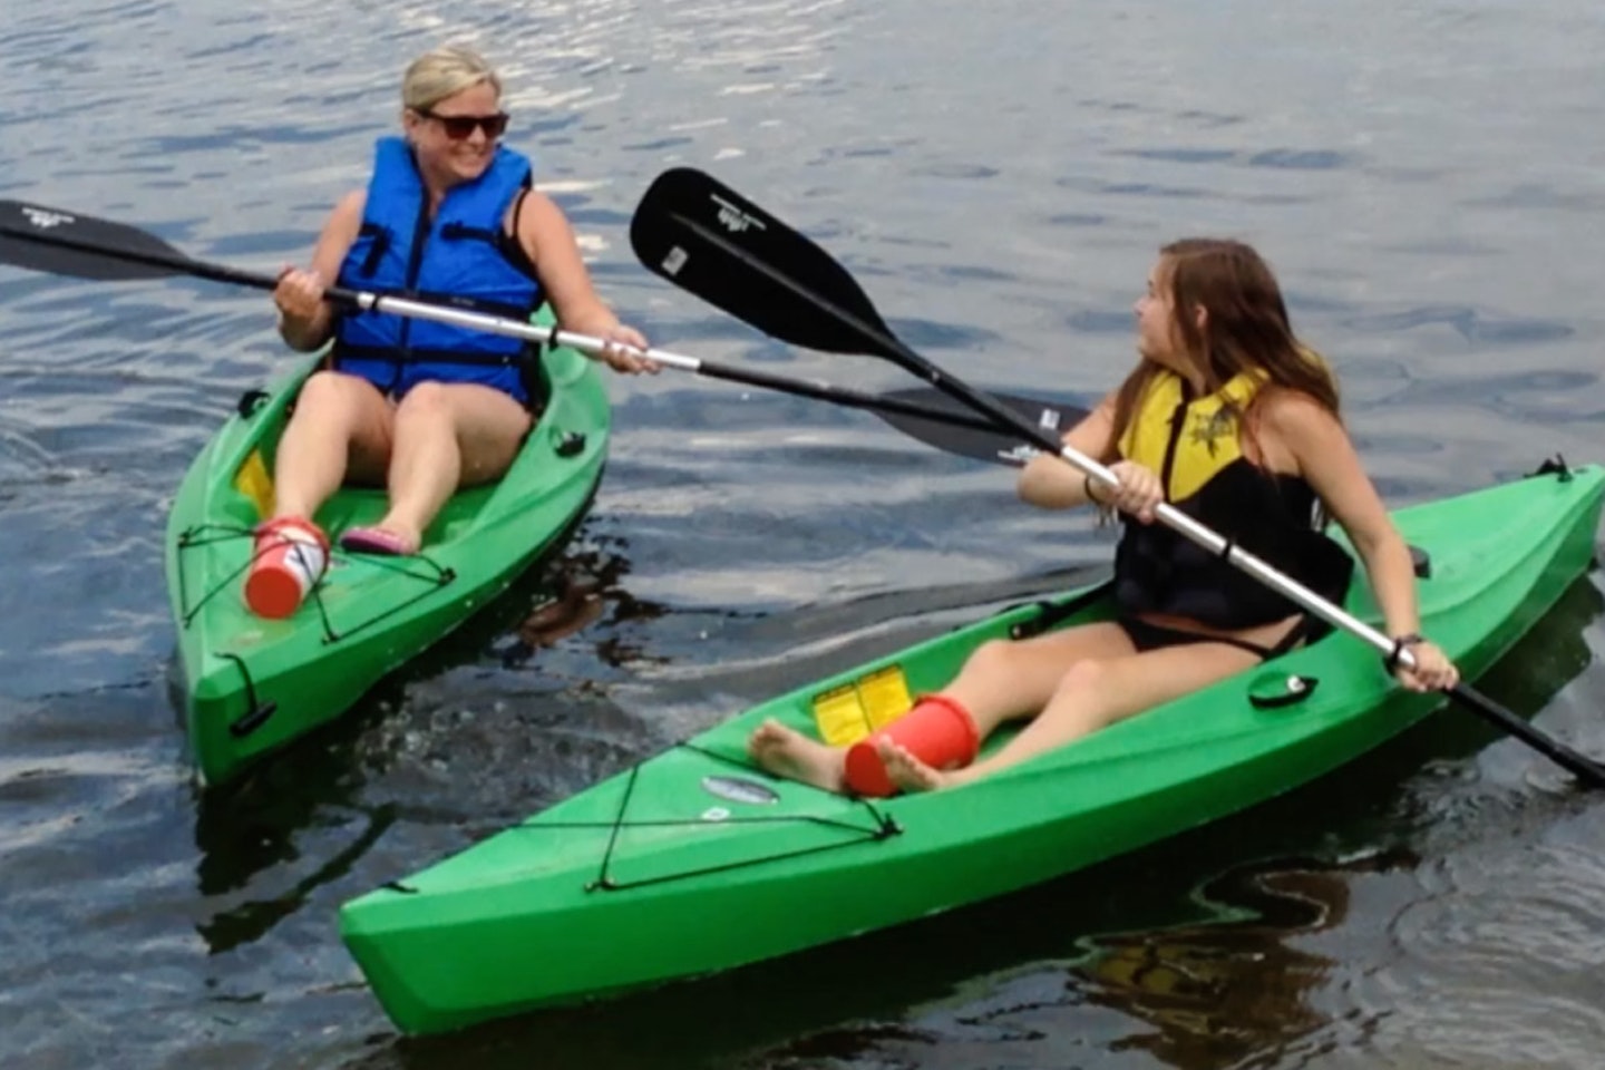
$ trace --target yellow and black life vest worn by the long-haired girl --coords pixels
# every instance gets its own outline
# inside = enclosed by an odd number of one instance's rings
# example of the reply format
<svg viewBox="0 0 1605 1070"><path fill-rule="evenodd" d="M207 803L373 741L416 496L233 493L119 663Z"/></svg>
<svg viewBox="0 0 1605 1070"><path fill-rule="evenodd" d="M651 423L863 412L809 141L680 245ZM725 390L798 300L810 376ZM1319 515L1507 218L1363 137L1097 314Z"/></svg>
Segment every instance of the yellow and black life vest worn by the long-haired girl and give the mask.
<svg viewBox="0 0 1605 1070"><path fill-rule="evenodd" d="M1242 452L1242 417L1263 382L1244 372L1194 396L1184 379L1160 372L1120 436L1120 457L1156 472L1175 509L1316 594L1342 600L1353 560L1316 528L1314 489ZM1125 614L1164 613L1218 629L1255 627L1298 611L1184 536L1130 517L1115 550L1115 602Z"/></svg>

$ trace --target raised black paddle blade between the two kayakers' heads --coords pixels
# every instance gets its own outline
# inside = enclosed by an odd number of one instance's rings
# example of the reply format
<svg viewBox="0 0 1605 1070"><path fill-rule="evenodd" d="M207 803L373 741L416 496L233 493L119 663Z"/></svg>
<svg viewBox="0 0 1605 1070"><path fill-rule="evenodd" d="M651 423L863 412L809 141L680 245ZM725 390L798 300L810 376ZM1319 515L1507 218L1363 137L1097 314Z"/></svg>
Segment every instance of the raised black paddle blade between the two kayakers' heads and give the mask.
<svg viewBox="0 0 1605 1070"><path fill-rule="evenodd" d="M896 345L830 253L690 167L652 183L629 223L629 244L650 271L782 342L880 356Z"/></svg>

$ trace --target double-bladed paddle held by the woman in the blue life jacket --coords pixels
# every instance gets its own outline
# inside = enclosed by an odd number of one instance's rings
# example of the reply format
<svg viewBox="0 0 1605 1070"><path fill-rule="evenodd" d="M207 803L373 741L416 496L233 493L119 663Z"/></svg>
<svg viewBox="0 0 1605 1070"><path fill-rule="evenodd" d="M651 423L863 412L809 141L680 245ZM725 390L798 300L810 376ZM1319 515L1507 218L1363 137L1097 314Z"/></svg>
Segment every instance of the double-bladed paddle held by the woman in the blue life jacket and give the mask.
<svg viewBox="0 0 1605 1070"><path fill-rule="evenodd" d="M18 201L0 201L0 263L100 281L194 276L258 290L271 290L278 286L278 279L270 274L194 260L156 234L125 223L112 223L79 212L48 209ZM342 308L433 319L437 322L510 335L528 342L567 345L592 355L602 353L605 347L602 338L592 338L571 330L555 330L518 319L414 298L368 294L342 287L329 287L326 297ZM764 390L778 390L782 393L830 401L831 404L868 409L905 435L963 457L995 464L1021 464L1029 452L1022 452L1014 435L997 433L992 420L976 417L937 391L899 390L886 395L873 395L828 383L714 364L663 350L648 350L645 356L666 367L693 372L708 379L724 379ZM1050 432L1059 427L1072 427L1087 415L1085 409L1059 401L1016 395L995 396L1022 419L1040 424Z"/></svg>

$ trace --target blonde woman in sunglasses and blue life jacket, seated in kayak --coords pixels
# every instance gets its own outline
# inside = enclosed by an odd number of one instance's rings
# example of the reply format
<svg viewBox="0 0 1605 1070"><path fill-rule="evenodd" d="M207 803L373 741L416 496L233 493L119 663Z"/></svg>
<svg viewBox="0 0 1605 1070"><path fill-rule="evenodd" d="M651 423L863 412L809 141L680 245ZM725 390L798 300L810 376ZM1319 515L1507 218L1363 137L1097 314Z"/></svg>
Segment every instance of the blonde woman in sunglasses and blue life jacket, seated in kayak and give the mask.
<svg viewBox="0 0 1605 1070"><path fill-rule="evenodd" d="M334 342L331 366L295 403L276 456L276 509L262 539L323 544L318 507L347 480L385 484L388 512L340 542L416 553L459 486L499 478L539 407L531 353L517 338L384 314L340 314L331 282L525 318L551 303L559 324L616 342L605 361L656 371L597 297L562 210L533 188L528 157L501 143L502 83L478 55L445 47L401 82L401 133L379 140L366 189L342 199L310 268L286 268L273 300L300 351ZM250 581L247 579L247 602Z"/></svg>

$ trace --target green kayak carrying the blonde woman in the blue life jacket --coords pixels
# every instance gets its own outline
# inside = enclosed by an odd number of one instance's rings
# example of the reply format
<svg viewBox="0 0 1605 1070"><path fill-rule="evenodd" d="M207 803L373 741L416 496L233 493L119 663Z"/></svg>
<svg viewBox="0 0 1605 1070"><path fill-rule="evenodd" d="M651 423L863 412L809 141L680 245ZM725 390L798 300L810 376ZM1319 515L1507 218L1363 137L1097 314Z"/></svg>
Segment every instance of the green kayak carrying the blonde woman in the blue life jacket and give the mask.
<svg viewBox="0 0 1605 1070"><path fill-rule="evenodd" d="M547 348L541 367L551 398L501 481L456 494L417 557L335 549L294 616L263 619L241 594L252 526L271 501L273 454L289 406L316 364L241 399L189 467L167 521L183 714L207 784L339 717L504 590L573 529L607 460L610 409L595 363ZM345 488L318 523L334 541L350 526L374 523L384 509L382 489Z"/></svg>

